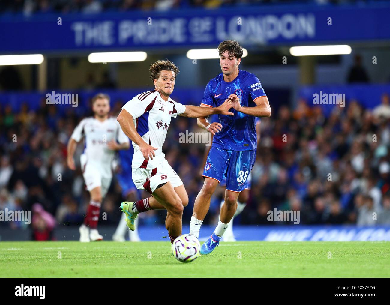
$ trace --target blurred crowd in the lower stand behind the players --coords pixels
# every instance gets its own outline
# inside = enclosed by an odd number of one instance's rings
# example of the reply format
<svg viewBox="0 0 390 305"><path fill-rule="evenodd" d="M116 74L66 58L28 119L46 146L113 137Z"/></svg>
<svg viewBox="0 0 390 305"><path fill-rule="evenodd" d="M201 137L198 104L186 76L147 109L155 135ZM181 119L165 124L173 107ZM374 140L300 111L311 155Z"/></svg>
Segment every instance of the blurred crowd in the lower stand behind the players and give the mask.
<svg viewBox="0 0 390 305"><path fill-rule="evenodd" d="M123 104L112 101L112 115ZM327 106L333 112L324 117L322 108L301 100L294 109L281 106L271 118L261 120L250 199L237 222L287 224L268 221L268 211L277 208L300 211L302 224L390 224L388 94L383 94L382 103L373 110L363 109L356 100L347 101L345 108ZM76 124L91 113L77 117L72 108L59 112L58 107L46 105L43 98L37 111L31 111L28 103L17 113L11 106L0 109L0 210L32 210L33 220L36 213L46 211L55 217L55 225L78 225L89 202L78 162L83 144L75 155L76 171L66 166L66 145ZM179 143L179 137L186 130L203 130L195 119L184 117L172 119L169 129L163 151L188 192L189 205L183 215L183 222L188 223L203 183L200 173L206 147ZM218 221L223 193L219 188L213 196L205 223ZM101 217L99 225L118 223L117 206L122 200L114 177L101 209L105 218ZM165 213L143 213L140 224L163 223ZM39 227L50 217L36 218ZM0 225L17 228L23 223Z"/></svg>

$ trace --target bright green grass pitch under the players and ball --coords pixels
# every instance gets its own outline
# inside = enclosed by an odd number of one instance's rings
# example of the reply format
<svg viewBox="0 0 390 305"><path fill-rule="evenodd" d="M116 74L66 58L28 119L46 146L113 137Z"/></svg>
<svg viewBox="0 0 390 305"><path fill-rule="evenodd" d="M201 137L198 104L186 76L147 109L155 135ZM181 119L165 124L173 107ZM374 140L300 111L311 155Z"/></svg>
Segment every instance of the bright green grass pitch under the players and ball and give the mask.
<svg viewBox="0 0 390 305"><path fill-rule="evenodd" d="M166 241L3 241L0 277L390 277L389 249L389 242L239 241L184 264Z"/></svg>

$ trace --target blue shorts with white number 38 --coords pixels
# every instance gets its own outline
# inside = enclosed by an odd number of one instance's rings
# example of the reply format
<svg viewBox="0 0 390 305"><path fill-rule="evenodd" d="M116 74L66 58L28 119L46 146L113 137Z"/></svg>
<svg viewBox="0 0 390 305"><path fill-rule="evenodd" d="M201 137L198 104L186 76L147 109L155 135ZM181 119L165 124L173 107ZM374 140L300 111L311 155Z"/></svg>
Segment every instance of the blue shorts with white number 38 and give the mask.
<svg viewBox="0 0 390 305"><path fill-rule="evenodd" d="M207 156L202 177L213 178L219 182L226 180L226 189L242 192L248 188L248 176L255 163L256 149L230 151L211 147Z"/></svg>

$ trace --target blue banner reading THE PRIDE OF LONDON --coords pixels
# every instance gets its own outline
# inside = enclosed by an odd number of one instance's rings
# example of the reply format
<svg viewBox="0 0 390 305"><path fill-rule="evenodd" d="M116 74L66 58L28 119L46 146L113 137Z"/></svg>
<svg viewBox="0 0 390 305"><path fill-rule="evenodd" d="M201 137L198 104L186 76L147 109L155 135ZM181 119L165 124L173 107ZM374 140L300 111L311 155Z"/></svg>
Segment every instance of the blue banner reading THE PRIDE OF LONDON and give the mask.
<svg viewBox="0 0 390 305"><path fill-rule="evenodd" d="M390 4L39 14L0 18L0 53L216 47L390 40Z"/></svg>

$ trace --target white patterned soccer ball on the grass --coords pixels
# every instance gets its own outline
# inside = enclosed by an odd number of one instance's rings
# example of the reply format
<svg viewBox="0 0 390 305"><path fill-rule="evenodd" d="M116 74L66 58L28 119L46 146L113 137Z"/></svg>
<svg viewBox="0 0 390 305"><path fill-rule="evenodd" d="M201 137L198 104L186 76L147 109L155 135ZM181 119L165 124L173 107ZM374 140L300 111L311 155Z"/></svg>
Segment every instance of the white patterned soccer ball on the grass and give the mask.
<svg viewBox="0 0 390 305"><path fill-rule="evenodd" d="M190 234L179 236L172 244L172 254L181 262L194 261L200 256L199 240Z"/></svg>

